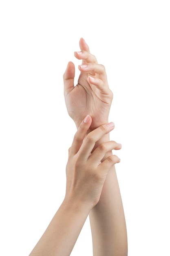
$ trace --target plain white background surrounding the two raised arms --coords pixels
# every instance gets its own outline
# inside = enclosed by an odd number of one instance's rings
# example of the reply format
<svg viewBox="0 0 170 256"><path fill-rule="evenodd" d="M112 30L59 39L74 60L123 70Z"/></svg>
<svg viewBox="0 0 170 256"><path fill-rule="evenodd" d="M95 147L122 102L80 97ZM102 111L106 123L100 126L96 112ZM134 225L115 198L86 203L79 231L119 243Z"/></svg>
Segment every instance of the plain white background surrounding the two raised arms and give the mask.
<svg viewBox="0 0 170 256"><path fill-rule="evenodd" d="M129 256L170 255L167 0L0 1L0 255L28 255L65 195L62 75L84 37L114 93ZM92 256L88 219L71 255Z"/></svg>

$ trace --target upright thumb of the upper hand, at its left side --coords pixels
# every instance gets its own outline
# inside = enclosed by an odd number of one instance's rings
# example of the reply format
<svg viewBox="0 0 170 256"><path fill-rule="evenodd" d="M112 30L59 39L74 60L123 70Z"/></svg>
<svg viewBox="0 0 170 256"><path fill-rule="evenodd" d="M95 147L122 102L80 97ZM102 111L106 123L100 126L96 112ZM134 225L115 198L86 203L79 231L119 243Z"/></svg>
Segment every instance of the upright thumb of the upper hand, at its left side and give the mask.
<svg viewBox="0 0 170 256"><path fill-rule="evenodd" d="M64 95L74 89L75 65L73 62L68 62L66 71L63 75L64 80Z"/></svg>

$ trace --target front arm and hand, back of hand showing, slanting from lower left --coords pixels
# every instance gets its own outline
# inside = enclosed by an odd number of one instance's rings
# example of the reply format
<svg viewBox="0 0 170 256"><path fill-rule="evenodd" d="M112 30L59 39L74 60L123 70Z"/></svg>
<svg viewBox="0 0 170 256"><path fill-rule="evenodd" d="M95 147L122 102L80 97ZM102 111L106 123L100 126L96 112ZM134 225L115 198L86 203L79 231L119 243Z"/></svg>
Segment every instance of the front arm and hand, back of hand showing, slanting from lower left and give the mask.
<svg viewBox="0 0 170 256"><path fill-rule="evenodd" d="M104 155L120 145L107 141L92 152L94 145L113 130L105 124L86 135L92 119L87 116L77 130L69 149L66 166L66 195L46 231L30 256L69 256L91 209L99 201L110 167L119 162L117 156Z"/></svg>

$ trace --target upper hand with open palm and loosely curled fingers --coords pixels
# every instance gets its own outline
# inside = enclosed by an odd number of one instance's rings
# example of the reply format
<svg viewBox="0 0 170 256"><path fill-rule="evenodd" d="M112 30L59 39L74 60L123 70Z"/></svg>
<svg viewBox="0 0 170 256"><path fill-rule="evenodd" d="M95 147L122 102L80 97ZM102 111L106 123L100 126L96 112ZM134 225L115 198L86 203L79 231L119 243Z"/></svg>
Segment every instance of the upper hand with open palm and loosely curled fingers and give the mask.
<svg viewBox="0 0 170 256"><path fill-rule="evenodd" d="M113 93L109 89L104 66L97 63L83 38L80 39L79 46L81 52L75 52L75 57L82 59L82 65L79 65L81 73L77 85L74 86L75 65L68 63L63 75L64 97L68 114L77 128L89 114L92 117L90 130L94 130L108 122Z"/></svg>

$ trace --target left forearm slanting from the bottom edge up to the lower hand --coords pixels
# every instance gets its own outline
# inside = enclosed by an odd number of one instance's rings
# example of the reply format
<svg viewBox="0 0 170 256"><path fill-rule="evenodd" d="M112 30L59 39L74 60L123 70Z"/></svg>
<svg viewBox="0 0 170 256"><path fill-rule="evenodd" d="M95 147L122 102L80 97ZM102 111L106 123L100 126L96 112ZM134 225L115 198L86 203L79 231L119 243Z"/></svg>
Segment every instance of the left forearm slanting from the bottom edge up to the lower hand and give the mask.
<svg viewBox="0 0 170 256"><path fill-rule="evenodd" d="M29 256L69 256L89 214L73 202L63 202Z"/></svg>

